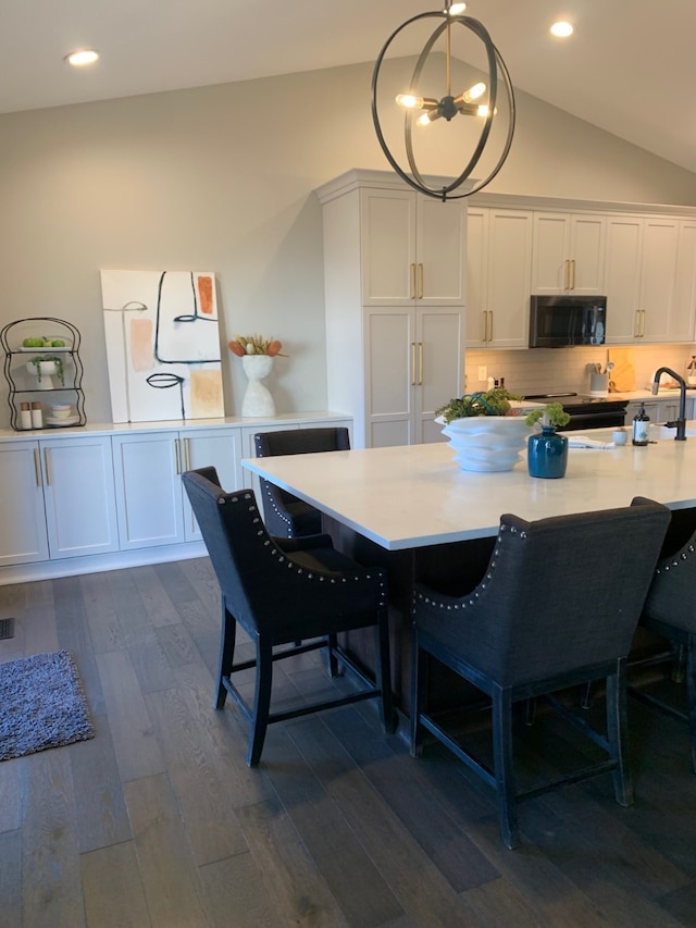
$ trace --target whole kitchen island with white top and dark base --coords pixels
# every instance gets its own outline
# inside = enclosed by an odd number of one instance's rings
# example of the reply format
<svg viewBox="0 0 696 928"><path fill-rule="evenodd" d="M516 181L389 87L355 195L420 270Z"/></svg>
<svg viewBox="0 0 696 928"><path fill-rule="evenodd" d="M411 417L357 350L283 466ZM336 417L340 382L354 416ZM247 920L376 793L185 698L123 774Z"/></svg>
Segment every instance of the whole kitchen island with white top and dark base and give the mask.
<svg viewBox="0 0 696 928"><path fill-rule="evenodd" d="M629 506L634 496L670 509L696 507L696 422L687 423L686 442L675 442L673 432L654 431L655 437L670 437L647 447L570 448L560 480L530 477L525 460L504 473L462 471L447 444L247 459L243 465L319 508L346 554L387 569L395 696L408 715L413 583L451 594L471 589L488 561L502 512L535 520ZM610 431L592 432L595 441L611 437ZM359 634L348 642L368 668L370 644ZM446 668L431 679L431 705L462 698L459 678Z"/></svg>

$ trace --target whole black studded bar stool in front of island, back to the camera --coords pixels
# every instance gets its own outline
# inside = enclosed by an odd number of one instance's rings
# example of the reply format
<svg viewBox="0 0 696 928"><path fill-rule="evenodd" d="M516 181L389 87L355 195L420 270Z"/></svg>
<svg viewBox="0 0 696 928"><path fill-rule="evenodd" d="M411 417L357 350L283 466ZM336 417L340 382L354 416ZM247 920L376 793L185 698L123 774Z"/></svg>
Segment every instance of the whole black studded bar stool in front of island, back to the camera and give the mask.
<svg viewBox="0 0 696 928"><path fill-rule="evenodd" d="M496 791L508 847L519 843L520 800L612 771L617 802L633 802L626 655L669 520L666 507L643 498L624 508L536 522L504 515L485 574L473 590L451 596L414 587L411 753L420 753L426 730L482 777ZM489 697L492 768L428 714L431 657ZM551 695L601 679L607 683L606 735ZM606 759L519 791L512 707L542 695L598 744Z"/></svg>

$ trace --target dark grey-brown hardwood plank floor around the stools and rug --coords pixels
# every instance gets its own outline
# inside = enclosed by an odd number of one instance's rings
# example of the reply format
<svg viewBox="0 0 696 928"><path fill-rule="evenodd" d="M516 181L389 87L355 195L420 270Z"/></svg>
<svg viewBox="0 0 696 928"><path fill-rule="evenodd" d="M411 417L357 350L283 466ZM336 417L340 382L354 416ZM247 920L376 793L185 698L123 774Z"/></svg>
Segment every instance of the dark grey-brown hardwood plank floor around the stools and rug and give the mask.
<svg viewBox="0 0 696 928"><path fill-rule="evenodd" d="M246 723L212 708L219 608L206 559L0 587L0 661L70 651L97 728L0 764L3 928L696 925L678 720L632 700L635 805L608 777L538 797L511 852L484 788L368 704L272 726L249 770ZM276 701L349 685L316 654L276 673ZM525 735L575 750L544 714Z"/></svg>

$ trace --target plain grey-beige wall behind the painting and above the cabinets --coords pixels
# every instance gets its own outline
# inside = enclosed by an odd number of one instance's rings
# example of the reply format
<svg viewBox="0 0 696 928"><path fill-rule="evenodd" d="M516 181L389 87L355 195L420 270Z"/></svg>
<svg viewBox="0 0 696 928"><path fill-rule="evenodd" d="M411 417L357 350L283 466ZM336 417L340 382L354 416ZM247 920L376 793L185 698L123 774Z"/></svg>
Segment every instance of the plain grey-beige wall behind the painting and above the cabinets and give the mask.
<svg viewBox="0 0 696 928"><path fill-rule="evenodd" d="M58 315L84 335L87 413L111 419L99 270L214 271L222 336L274 335L278 411L324 408L321 211L313 189L388 169L372 65L0 116L0 323ZM497 193L696 205L694 174L519 94ZM432 173L459 168L447 152ZM224 354L225 404L245 379ZM4 388L2 388L4 395ZM0 425L7 425L2 404Z"/></svg>

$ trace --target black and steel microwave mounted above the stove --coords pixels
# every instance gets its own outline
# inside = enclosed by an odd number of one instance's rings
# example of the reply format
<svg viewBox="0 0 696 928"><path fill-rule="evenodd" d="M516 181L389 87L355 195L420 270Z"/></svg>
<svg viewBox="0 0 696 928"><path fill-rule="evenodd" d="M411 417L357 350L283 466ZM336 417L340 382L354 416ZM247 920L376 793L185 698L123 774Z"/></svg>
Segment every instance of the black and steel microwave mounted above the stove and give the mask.
<svg viewBox="0 0 696 928"><path fill-rule="evenodd" d="M530 348L604 345L606 296L533 296L530 307Z"/></svg>

